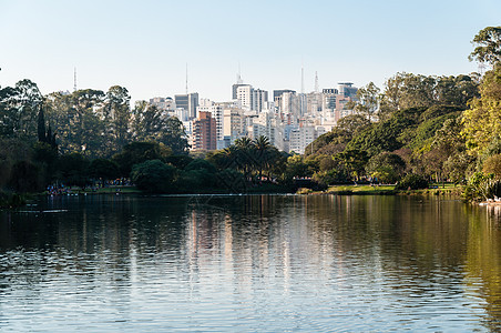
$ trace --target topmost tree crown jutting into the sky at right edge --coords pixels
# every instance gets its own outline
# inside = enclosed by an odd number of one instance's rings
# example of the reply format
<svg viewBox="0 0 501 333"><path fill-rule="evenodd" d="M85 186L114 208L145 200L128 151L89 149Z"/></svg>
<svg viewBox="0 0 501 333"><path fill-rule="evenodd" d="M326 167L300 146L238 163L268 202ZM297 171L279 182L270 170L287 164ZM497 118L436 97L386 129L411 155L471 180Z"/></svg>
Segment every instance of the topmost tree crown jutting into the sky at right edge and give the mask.
<svg viewBox="0 0 501 333"><path fill-rule="evenodd" d="M501 61L501 27L487 27L477 33L472 43L477 47L470 53L470 61L487 62L494 65Z"/></svg>

